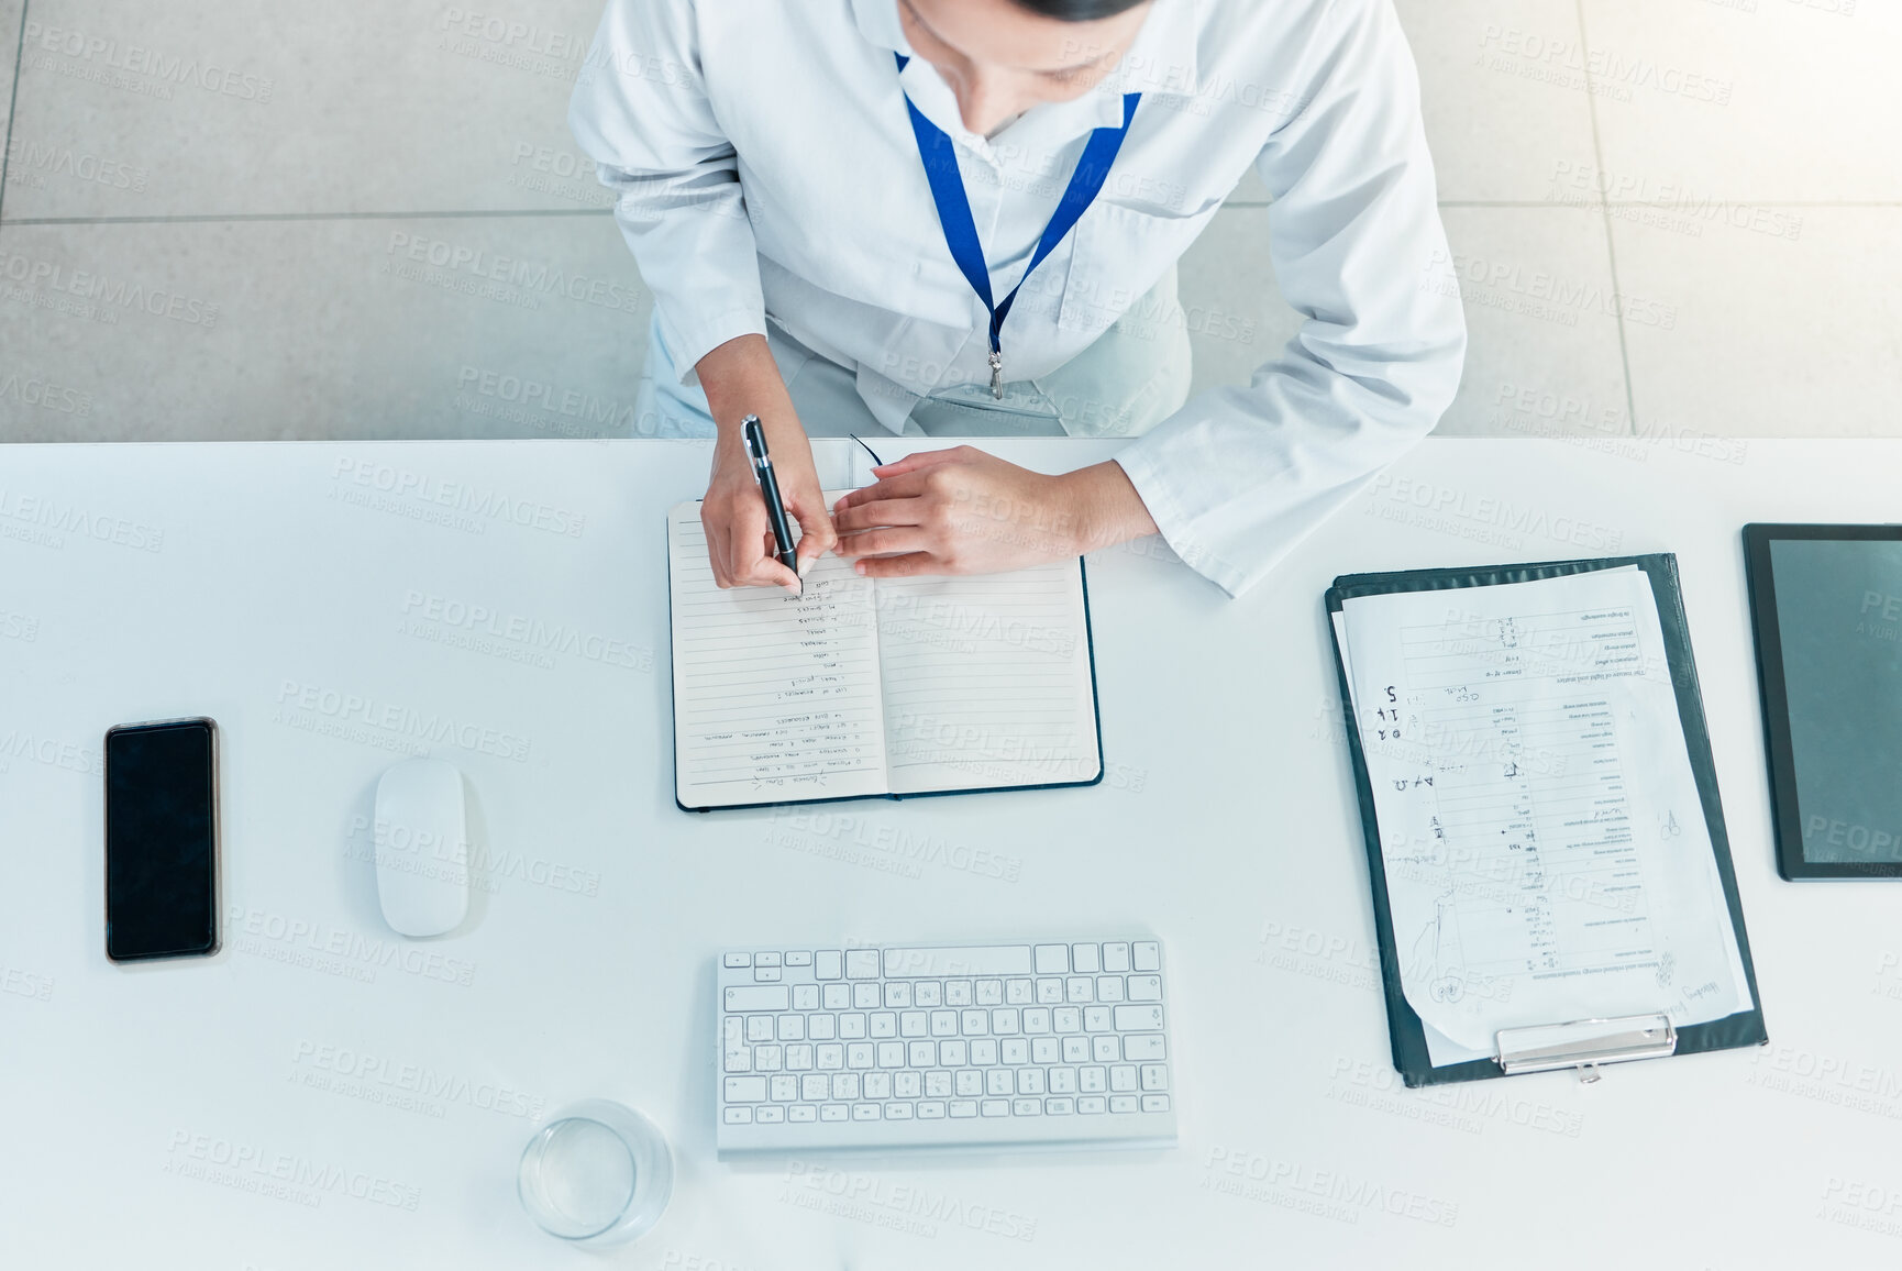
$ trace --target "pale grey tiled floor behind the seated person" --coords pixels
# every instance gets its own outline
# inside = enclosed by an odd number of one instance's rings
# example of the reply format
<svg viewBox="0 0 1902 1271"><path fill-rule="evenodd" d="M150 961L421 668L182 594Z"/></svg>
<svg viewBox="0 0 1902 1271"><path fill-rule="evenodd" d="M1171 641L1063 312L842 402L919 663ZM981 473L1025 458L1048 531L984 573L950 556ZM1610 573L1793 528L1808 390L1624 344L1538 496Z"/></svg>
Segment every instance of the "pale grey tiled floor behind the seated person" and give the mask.
<svg viewBox="0 0 1902 1271"><path fill-rule="evenodd" d="M565 127L599 8L0 0L0 438L633 432L649 297ZM1902 434L1902 4L1398 8L1472 327L1442 432ZM1265 204L1183 264L1198 386L1297 323Z"/></svg>

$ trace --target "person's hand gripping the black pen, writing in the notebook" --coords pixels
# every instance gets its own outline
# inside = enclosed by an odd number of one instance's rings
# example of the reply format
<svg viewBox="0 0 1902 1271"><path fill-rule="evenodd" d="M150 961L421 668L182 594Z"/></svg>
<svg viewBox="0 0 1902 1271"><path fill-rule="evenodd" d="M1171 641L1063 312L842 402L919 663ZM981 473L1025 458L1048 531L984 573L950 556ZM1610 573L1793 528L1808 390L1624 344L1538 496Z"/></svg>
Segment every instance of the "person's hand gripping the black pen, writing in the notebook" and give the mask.
<svg viewBox="0 0 1902 1271"><path fill-rule="evenodd" d="M719 424L713 476L708 479L706 502L700 504L713 580L723 588L784 586L799 596L799 578L812 569L812 561L839 544L839 533L812 466L812 443L793 411L780 369L767 341L757 335L721 344L696 369ZM767 500L740 440L740 420L749 413L759 415L759 426L767 434L767 455L780 481L786 519L801 531L799 575L778 559Z"/></svg>

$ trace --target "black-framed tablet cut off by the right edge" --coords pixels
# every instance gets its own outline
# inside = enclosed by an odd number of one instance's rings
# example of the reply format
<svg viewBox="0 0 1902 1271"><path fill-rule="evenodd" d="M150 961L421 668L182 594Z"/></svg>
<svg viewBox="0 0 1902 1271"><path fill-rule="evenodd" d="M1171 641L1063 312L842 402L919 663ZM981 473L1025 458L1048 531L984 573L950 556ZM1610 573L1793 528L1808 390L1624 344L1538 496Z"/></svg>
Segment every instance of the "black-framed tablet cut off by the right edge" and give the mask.
<svg viewBox="0 0 1902 1271"><path fill-rule="evenodd" d="M1786 879L1902 877L1902 525L1744 525Z"/></svg>

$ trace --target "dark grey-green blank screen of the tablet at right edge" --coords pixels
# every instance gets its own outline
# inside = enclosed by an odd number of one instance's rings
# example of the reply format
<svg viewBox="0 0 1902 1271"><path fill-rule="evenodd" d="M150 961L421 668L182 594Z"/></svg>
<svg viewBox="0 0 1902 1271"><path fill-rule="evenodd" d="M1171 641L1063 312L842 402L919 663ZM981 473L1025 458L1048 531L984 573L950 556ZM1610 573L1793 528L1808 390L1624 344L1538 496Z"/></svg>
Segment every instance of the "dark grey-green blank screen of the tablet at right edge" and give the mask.
<svg viewBox="0 0 1902 1271"><path fill-rule="evenodd" d="M1803 862L1902 864L1902 542L1769 554Z"/></svg>

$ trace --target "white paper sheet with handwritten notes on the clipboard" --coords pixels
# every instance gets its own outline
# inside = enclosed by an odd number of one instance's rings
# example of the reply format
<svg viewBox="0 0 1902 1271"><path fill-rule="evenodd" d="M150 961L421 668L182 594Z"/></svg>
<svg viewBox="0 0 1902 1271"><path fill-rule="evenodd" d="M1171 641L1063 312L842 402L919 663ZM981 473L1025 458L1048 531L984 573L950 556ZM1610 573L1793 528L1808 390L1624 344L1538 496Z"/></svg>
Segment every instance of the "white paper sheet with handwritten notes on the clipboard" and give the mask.
<svg viewBox="0 0 1902 1271"><path fill-rule="evenodd" d="M1643 573L1358 597L1343 636L1430 1043L1748 1007Z"/></svg>

